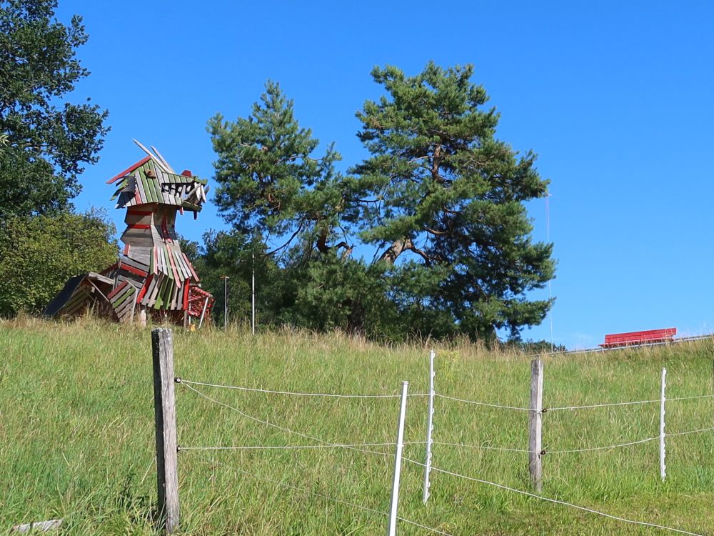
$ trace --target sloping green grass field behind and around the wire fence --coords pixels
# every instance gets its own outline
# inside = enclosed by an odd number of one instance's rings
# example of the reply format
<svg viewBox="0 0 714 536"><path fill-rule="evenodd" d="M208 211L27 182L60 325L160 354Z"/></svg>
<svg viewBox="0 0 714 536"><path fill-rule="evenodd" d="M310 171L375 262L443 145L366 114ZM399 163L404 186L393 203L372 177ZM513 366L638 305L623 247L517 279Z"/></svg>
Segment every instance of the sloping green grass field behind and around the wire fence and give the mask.
<svg viewBox="0 0 714 536"><path fill-rule="evenodd" d="M382 347L340 335L295 332L251 337L175 333L176 374L200 382L298 392L411 393L428 382L428 345ZM148 329L102 322L0 323L0 531L62 517L62 534L154 534L154 394ZM530 358L467 344L436 348L436 390L464 399L528 406ZM607 354L545 358L546 407L713 392L709 341ZM290 397L198 387L259 420L333 443L393 442L398 399ZM313 445L176 386L183 447ZM436 399L434 441L525 450L528 412ZM714 399L669 402L668 432L714 426ZM426 398L408 401L406 442L423 442ZM571 450L658 435L659 406L547 412L546 450ZM381 535L392 478L386 455L342 448L182 450L181 533L192 535ZM714 534L714 435L668 438L668 478L658 442L550 454L543 495L633 520ZM404 455L423 462L423 445ZM435 467L529 490L523 452L435 445ZM432 473L405 462L399 515L451 535L667 534L562 505ZM342 502L328 499L331 497ZM353 505L377 510L361 510ZM400 535L430 532L399 522Z"/></svg>

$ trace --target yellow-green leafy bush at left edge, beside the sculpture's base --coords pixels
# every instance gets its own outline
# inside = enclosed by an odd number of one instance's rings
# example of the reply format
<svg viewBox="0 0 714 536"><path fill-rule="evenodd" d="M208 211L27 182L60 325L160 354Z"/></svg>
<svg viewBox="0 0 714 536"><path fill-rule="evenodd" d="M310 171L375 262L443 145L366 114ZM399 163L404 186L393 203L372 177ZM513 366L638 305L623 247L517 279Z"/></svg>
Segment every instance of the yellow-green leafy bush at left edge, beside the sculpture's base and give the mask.
<svg viewBox="0 0 714 536"><path fill-rule="evenodd" d="M0 317L40 312L83 272L116 262L116 229L106 213L14 216L0 223Z"/></svg>

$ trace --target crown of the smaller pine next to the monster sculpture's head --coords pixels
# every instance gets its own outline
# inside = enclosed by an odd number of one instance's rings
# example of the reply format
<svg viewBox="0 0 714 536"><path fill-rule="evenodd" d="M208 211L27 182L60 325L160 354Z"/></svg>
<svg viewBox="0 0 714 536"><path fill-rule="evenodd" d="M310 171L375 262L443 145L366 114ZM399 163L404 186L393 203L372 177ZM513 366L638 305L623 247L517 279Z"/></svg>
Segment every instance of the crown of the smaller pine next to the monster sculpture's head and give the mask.
<svg viewBox="0 0 714 536"><path fill-rule="evenodd" d="M334 164L341 156L330 144L316 157L319 140L295 119L293 101L272 81L252 114L208 121L213 149L216 204L236 231L272 240L282 252L302 239L320 252L348 248L331 244L344 209L341 176ZM308 249L309 254L312 249Z"/></svg>

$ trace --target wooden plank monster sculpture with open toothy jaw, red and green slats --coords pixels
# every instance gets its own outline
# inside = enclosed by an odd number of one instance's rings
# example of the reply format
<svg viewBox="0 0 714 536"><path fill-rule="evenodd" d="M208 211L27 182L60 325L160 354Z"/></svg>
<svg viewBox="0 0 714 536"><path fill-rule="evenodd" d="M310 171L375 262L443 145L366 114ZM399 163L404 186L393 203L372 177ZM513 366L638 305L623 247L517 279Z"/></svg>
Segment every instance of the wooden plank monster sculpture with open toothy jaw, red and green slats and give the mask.
<svg viewBox="0 0 714 536"><path fill-rule="evenodd" d="M136 142L136 140L135 140ZM136 142L147 156L107 181L116 185L116 208L126 209L124 251L103 272L72 277L47 306L48 316L76 315L94 307L118 322L161 321L199 325L208 319L213 297L201 289L191 261L176 237L176 214L206 202L206 179L188 170L176 174L164 157Z"/></svg>

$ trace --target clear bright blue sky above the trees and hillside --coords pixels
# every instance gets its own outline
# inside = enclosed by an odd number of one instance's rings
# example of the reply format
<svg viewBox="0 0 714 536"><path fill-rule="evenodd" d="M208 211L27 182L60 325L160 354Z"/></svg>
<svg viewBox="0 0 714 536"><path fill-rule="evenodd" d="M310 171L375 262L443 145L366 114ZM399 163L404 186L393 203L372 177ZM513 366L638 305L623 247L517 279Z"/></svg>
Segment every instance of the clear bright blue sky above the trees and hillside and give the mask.
<svg viewBox="0 0 714 536"><path fill-rule="evenodd" d="M108 108L112 128L78 209L106 207L123 229L104 181L141 158L131 138L211 177L206 120L248 114L268 78L347 167L366 156L354 114L381 94L374 65L472 63L501 112L499 137L537 152L551 181L554 341L714 331L714 4L60 4L60 19L81 14L90 36L79 57L92 74L76 94ZM545 239L545 202L528 209ZM191 239L211 227L223 222L210 203L197 222L177 222ZM524 336L548 339L548 322Z"/></svg>

